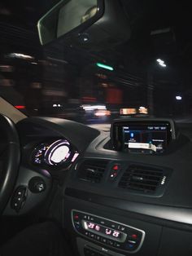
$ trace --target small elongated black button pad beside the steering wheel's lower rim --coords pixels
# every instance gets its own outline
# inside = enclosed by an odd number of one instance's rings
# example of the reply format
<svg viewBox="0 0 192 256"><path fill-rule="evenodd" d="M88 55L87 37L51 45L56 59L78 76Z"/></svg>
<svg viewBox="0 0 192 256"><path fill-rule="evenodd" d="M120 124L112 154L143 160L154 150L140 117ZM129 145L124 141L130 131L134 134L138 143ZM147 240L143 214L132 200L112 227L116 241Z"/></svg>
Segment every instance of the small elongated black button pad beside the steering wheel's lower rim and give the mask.
<svg viewBox="0 0 192 256"><path fill-rule="evenodd" d="M24 205L24 201L26 200L27 188L24 186L20 186L16 188L15 193L11 199L11 208L16 212L19 212L20 209Z"/></svg>

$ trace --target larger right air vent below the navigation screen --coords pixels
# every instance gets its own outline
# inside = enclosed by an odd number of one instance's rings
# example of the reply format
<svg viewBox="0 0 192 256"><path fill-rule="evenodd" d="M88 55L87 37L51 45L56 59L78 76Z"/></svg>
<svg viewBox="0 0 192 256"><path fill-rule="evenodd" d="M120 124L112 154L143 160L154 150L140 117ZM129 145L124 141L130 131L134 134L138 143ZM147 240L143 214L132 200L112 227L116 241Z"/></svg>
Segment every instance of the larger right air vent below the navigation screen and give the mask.
<svg viewBox="0 0 192 256"><path fill-rule="evenodd" d="M163 170L146 166L129 166L120 179L119 187L144 193L155 193L165 179Z"/></svg>

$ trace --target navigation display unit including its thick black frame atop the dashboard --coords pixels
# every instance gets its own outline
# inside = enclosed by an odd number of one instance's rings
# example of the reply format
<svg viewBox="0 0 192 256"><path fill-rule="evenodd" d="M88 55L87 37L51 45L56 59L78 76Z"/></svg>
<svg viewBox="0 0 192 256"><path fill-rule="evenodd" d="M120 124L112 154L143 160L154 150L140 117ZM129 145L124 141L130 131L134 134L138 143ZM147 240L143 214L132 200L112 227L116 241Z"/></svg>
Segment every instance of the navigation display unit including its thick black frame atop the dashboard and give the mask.
<svg viewBox="0 0 192 256"><path fill-rule="evenodd" d="M111 126L111 138L117 151L162 153L175 139L174 122L118 119Z"/></svg>

